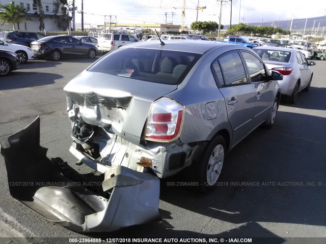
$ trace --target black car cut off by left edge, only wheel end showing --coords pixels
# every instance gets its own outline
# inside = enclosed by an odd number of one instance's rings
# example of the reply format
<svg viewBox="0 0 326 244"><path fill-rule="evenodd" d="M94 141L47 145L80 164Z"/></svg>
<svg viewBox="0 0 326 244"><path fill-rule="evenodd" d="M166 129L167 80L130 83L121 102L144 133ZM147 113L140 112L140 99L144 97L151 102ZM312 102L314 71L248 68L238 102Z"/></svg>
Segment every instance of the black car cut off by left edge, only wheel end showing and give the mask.
<svg viewBox="0 0 326 244"><path fill-rule="evenodd" d="M0 50L0 76L6 76L19 68L19 58L16 53Z"/></svg>

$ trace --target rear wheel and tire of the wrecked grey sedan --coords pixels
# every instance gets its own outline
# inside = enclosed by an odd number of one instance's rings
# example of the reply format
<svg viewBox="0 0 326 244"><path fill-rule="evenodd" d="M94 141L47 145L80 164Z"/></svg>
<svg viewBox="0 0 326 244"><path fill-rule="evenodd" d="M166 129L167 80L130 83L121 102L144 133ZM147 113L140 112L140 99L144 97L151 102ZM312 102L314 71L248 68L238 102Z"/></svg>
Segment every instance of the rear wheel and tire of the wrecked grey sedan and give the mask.
<svg viewBox="0 0 326 244"><path fill-rule="evenodd" d="M195 177L197 191L211 192L218 181L226 154L226 143L221 135L214 137L204 150L201 161L194 162L192 174Z"/></svg>

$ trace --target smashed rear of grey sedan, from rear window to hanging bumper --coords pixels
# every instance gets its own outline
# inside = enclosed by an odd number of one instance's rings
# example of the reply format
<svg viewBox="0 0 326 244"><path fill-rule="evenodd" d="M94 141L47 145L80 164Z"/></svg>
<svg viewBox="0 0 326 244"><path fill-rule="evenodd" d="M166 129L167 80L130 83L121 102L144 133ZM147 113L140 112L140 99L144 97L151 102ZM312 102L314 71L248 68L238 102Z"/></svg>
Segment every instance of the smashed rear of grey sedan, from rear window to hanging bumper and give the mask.
<svg viewBox="0 0 326 244"><path fill-rule="evenodd" d="M99 59L64 87L69 150L77 165L97 173L79 174L61 158L47 158L38 117L0 138L12 197L77 232L115 231L159 220L159 178L180 171L184 165L179 162L190 162L186 152L192 149L177 140L184 106L165 96L200 56L121 48Z"/></svg>

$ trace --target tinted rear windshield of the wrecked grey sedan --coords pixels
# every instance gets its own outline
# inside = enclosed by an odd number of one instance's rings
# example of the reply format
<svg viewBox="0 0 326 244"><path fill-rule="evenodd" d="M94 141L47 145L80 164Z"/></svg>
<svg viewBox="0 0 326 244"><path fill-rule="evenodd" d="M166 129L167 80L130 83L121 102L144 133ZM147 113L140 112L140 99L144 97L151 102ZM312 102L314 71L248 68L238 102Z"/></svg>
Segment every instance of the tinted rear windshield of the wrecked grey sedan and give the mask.
<svg viewBox="0 0 326 244"><path fill-rule="evenodd" d="M88 71L177 85L200 57L190 52L123 48L104 56Z"/></svg>

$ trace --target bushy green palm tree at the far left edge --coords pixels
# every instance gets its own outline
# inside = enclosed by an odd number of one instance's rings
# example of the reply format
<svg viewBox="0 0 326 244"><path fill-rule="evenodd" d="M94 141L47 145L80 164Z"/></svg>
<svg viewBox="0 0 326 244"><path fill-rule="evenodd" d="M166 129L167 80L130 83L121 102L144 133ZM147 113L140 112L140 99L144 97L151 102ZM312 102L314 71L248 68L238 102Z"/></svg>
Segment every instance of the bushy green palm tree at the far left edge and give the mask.
<svg viewBox="0 0 326 244"><path fill-rule="evenodd" d="M13 5L10 2L8 5L0 5L0 20L3 21L3 24L12 23L13 29L15 31L15 23L17 23L17 27L19 29L19 23L22 22L23 18L27 17L27 9L20 5Z"/></svg>

